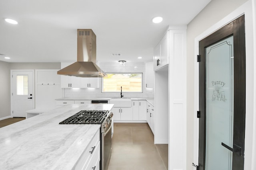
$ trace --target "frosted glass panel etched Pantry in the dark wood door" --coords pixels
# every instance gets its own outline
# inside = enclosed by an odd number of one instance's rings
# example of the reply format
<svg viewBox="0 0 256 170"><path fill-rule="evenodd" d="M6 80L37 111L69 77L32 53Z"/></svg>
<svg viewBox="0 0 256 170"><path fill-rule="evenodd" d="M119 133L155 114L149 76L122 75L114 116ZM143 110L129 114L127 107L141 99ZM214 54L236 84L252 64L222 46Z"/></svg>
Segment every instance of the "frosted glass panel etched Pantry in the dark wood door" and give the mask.
<svg viewBox="0 0 256 170"><path fill-rule="evenodd" d="M206 170L231 170L233 147L233 36L206 48Z"/></svg>

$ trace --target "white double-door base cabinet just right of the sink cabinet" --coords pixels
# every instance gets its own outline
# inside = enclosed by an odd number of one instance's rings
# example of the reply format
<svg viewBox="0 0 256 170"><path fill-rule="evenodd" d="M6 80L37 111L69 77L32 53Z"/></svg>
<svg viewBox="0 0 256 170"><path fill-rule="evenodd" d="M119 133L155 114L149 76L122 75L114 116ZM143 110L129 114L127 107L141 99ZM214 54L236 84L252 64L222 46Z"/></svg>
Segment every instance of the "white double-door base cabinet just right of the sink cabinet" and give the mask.
<svg viewBox="0 0 256 170"><path fill-rule="evenodd" d="M133 115L133 120L146 120L146 101L145 100L132 101L132 115Z"/></svg>

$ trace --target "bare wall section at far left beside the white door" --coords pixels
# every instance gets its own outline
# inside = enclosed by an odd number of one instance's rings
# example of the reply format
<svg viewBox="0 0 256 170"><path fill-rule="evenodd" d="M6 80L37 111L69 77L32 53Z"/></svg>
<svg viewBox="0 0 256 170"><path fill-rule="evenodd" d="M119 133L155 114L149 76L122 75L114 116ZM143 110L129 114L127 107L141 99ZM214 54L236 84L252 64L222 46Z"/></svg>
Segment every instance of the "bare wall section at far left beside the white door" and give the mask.
<svg viewBox="0 0 256 170"><path fill-rule="evenodd" d="M10 63L0 61L0 120L11 115Z"/></svg>

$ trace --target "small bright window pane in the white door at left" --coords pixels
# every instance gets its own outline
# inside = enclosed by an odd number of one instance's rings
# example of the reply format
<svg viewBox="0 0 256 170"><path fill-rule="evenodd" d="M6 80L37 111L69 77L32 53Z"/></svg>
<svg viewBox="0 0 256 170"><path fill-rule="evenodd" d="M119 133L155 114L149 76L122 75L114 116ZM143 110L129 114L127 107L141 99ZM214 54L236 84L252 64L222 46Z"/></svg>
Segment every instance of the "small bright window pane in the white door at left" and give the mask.
<svg viewBox="0 0 256 170"><path fill-rule="evenodd" d="M17 75L17 95L28 95L28 75Z"/></svg>

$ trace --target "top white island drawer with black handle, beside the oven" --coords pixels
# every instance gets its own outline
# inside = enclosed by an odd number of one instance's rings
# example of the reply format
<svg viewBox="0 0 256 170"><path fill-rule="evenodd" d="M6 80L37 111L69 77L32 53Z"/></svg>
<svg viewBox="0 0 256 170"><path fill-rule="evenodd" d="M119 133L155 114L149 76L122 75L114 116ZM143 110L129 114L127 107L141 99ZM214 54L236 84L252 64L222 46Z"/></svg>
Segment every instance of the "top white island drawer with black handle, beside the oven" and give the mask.
<svg viewBox="0 0 256 170"><path fill-rule="evenodd" d="M92 141L89 143L88 147L80 156L80 159L78 160L75 170L81 170L86 168L89 165L89 161L94 156L94 153L98 152L98 148L100 148L100 131L95 134ZM100 151L100 150L99 150ZM91 168L92 169L92 168Z"/></svg>

